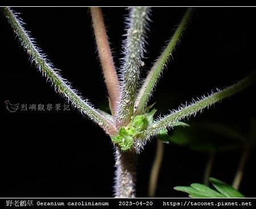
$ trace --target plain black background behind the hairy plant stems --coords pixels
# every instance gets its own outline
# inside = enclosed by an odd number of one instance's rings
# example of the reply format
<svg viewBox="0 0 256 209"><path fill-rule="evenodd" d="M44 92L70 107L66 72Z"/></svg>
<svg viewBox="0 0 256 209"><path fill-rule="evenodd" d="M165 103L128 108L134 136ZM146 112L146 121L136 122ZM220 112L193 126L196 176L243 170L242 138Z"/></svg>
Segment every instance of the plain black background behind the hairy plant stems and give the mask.
<svg viewBox="0 0 256 209"><path fill-rule="evenodd" d="M14 8L26 29L61 74L97 108L107 96L97 59L88 8ZM127 10L103 8L116 66L119 66ZM146 73L177 27L185 8L153 8ZM152 102L158 114L168 113L192 97L225 87L255 69L255 8L197 8L174 59L164 71ZM28 61L1 15L1 197L112 197L113 145L104 132L77 110L10 113L11 103L65 103L46 78ZM255 84L205 110L193 121L228 122L247 131L255 117ZM189 120L191 121L191 120ZM187 197L172 188L201 182L207 153L175 144L165 146L157 197ZM138 197L147 197L155 140L141 154ZM219 153L211 176L232 183L240 150ZM255 152L245 168L241 192L255 197Z"/></svg>

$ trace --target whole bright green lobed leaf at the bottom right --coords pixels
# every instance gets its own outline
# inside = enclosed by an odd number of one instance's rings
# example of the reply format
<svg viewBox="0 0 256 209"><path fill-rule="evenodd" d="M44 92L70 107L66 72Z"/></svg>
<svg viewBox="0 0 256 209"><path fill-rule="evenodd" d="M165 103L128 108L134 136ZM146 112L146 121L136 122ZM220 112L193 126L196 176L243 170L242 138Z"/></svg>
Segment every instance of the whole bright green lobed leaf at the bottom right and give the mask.
<svg viewBox="0 0 256 209"><path fill-rule="evenodd" d="M198 183L191 184L190 186L176 186L174 189L177 191L184 191L185 193L189 194L189 197L195 198L245 197L232 186L217 180L216 178L210 178L210 182L217 189L217 191Z"/></svg>

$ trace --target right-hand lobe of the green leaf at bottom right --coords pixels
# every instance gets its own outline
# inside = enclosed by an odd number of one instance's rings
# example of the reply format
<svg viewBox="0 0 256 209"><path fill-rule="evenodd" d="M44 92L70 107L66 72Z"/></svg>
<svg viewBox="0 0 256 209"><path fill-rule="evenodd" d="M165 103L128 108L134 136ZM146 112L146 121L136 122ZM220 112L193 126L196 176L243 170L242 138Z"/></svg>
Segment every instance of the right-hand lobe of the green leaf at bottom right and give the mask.
<svg viewBox="0 0 256 209"><path fill-rule="evenodd" d="M217 180L217 178L210 178L210 182L212 185L221 193L224 194L225 197L234 198L234 197L245 197L239 191L234 189L232 186L226 184L223 181Z"/></svg>

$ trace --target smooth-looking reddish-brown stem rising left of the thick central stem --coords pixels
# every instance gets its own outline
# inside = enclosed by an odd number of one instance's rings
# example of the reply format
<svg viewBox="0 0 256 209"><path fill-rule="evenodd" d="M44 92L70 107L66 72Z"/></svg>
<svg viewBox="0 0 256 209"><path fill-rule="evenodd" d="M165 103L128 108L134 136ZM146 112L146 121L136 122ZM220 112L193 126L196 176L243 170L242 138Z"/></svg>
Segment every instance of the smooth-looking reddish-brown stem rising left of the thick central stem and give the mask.
<svg viewBox="0 0 256 209"><path fill-rule="evenodd" d="M104 74L106 87L109 93L109 99L114 112L117 112L118 99L120 93L120 86L115 70L112 53L109 46L108 36L104 24L100 7L91 7L90 14L92 16L92 23L94 35L96 39L98 55L101 61L102 72Z"/></svg>

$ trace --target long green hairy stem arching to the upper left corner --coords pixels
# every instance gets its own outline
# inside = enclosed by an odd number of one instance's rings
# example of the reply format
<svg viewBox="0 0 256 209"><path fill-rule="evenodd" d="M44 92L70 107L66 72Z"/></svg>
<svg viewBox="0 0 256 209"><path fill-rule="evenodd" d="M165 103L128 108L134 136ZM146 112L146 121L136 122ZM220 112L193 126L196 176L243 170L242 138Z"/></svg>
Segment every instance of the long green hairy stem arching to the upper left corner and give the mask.
<svg viewBox="0 0 256 209"><path fill-rule="evenodd" d="M20 44L30 56L30 62L34 64L39 72L47 78L57 93L63 95L69 103L75 106L79 111L88 116L92 121L96 122L108 134L113 134L115 126L111 121L104 117L98 110L94 109L88 100L82 99L79 93L71 87L71 84L61 77L60 71L55 69L52 63L47 59L46 54L36 46L35 40L29 36L29 33L23 28L24 23L18 17L18 14L13 12L8 7L2 7L3 14L13 28Z"/></svg>

